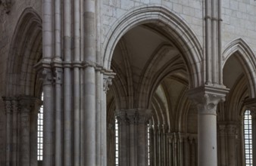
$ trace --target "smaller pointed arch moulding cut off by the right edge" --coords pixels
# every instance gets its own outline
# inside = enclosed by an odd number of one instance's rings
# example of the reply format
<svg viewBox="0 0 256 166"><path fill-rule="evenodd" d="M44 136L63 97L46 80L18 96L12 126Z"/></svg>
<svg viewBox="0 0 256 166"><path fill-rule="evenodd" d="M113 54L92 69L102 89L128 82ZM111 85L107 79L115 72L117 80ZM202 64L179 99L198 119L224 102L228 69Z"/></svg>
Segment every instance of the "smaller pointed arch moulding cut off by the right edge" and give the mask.
<svg viewBox="0 0 256 166"><path fill-rule="evenodd" d="M256 58L254 52L242 38L237 38L233 42L230 42L223 51L222 69L229 57L234 55L237 55L239 62L244 69L245 75L248 78L249 95L251 98L254 98L256 95Z"/></svg>

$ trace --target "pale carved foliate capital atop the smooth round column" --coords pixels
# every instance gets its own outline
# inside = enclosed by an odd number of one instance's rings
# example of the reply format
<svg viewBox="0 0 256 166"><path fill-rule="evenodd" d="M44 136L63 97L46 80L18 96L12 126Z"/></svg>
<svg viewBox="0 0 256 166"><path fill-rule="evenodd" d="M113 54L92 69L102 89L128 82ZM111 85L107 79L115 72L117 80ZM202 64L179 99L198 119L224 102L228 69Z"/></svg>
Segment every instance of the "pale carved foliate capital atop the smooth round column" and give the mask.
<svg viewBox="0 0 256 166"><path fill-rule="evenodd" d="M229 89L203 85L189 90L189 98L195 103L199 114L216 115L217 104L225 101Z"/></svg>

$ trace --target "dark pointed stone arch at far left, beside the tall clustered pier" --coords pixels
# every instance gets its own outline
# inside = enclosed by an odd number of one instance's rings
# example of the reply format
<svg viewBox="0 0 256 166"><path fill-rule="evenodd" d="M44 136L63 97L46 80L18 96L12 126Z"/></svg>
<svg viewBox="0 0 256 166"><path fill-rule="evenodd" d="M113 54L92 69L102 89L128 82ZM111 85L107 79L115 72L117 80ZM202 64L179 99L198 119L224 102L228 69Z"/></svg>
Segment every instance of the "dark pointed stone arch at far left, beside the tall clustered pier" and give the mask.
<svg viewBox="0 0 256 166"><path fill-rule="evenodd" d="M41 85L33 69L40 57L42 20L33 8L26 8L17 22L8 54L6 96L40 95Z"/></svg>

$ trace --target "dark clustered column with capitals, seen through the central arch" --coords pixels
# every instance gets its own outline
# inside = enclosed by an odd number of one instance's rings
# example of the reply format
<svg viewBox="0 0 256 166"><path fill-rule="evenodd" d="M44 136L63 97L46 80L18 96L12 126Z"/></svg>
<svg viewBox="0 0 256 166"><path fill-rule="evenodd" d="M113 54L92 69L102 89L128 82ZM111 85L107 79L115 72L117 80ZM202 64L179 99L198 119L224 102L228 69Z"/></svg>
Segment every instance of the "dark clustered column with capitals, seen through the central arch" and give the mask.
<svg viewBox="0 0 256 166"><path fill-rule="evenodd" d="M146 131L150 117L149 109L126 109L117 112L117 120L120 124L120 165L147 164Z"/></svg>

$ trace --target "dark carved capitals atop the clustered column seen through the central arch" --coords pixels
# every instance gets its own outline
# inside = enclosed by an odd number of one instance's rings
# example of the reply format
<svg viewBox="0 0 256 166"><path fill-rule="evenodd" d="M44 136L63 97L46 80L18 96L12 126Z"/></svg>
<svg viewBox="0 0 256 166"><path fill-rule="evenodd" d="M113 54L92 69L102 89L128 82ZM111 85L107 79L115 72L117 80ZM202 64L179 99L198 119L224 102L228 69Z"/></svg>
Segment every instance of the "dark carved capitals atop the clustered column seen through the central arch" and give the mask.
<svg viewBox="0 0 256 166"><path fill-rule="evenodd" d="M116 115L120 123L145 124L151 118L151 109L121 109Z"/></svg>

